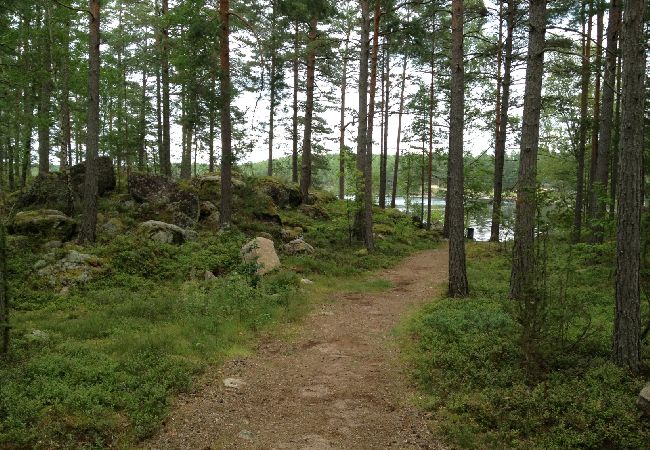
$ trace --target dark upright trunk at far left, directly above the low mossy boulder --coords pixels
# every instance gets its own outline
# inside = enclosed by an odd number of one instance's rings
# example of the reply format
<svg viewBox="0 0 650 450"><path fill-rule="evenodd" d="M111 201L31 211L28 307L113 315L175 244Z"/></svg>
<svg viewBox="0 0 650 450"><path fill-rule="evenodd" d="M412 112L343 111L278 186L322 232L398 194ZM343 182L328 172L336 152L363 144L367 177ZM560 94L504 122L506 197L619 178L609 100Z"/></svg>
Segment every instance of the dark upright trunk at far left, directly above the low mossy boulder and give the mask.
<svg viewBox="0 0 650 450"><path fill-rule="evenodd" d="M38 173L50 171L50 96L52 95L52 42L50 35L50 8L43 16L42 57L43 69L38 102Z"/></svg>

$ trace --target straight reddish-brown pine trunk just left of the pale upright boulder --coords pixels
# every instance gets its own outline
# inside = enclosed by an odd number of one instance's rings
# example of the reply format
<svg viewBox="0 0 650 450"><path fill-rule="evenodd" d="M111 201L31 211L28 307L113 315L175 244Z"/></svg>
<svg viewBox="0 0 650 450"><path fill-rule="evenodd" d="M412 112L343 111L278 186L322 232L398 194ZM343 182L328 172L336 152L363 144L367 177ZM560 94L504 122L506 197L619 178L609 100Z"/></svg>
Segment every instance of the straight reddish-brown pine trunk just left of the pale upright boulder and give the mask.
<svg viewBox="0 0 650 450"><path fill-rule="evenodd" d="M230 226L232 216L232 123L230 102L230 0L219 0L219 85L221 90L221 209L222 228Z"/></svg>

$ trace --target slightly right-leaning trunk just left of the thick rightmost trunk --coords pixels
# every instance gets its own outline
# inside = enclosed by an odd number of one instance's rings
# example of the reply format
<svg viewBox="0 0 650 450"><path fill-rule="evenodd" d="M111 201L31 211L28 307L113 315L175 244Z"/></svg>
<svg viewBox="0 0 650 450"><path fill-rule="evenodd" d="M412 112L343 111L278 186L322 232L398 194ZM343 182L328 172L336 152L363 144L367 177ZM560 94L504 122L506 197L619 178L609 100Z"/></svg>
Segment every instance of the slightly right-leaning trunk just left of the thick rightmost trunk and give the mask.
<svg viewBox="0 0 650 450"><path fill-rule="evenodd" d="M600 115L598 155L594 176L593 198L594 205L592 242L603 241L602 220L605 217L607 200L607 181L609 175L610 148L612 146L612 129L614 128L614 89L616 84L616 54L620 33L621 4L620 0L610 2L609 18L607 19L607 49L605 50L605 76L603 79L603 105ZM615 142L614 145L617 143Z"/></svg>

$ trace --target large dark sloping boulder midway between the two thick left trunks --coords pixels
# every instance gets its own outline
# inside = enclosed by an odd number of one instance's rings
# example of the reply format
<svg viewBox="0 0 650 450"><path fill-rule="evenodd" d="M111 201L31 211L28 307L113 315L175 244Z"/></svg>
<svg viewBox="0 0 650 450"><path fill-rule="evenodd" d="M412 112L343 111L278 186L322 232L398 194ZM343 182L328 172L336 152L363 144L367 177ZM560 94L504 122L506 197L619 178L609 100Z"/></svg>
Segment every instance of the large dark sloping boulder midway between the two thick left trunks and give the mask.
<svg viewBox="0 0 650 450"><path fill-rule="evenodd" d="M199 198L167 177L134 173L129 176L128 185L129 194L135 200L165 209L179 226L199 220Z"/></svg>

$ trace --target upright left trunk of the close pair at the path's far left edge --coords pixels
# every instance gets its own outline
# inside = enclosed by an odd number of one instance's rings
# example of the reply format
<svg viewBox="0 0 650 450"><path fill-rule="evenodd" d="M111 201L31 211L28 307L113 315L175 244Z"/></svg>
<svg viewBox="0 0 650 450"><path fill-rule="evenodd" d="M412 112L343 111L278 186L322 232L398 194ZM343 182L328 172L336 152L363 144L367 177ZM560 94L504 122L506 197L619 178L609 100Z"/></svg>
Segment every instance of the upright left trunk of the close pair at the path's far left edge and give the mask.
<svg viewBox="0 0 650 450"><path fill-rule="evenodd" d="M368 58L370 49L370 11L368 0L359 0L361 7L361 45L359 51L359 130L357 137L357 171L362 174L358 177L356 203L357 214L355 217L354 229L357 236L361 237L366 244L366 247L372 248L372 222L368 224L367 210L370 209L372 214L372 198L368 198L368 170L367 168L372 164L368 160ZM372 191L372 187L371 187ZM371 216L372 219L372 216ZM370 225L370 233L368 233L368 225Z"/></svg>

